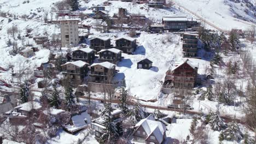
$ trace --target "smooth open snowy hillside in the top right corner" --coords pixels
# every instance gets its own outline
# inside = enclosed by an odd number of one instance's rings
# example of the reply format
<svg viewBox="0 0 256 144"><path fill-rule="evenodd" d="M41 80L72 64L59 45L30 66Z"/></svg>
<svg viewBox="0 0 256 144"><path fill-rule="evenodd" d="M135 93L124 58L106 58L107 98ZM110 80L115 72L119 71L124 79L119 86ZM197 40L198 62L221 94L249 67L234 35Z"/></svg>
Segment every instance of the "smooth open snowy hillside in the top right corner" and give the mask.
<svg viewBox="0 0 256 144"><path fill-rule="evenodd" d="M248 29L251 25L255 25L256 17L254 10L248 10L245 3L235 3L227 0L179 0L177 4L193 11L195 14L201 15L207 21L210 21L217 27L226 31L234 29ZM251 1L255 7L255 1ZM246 20L246 21L244 21ZM247 22L249 21L249 22Z"/></svg>

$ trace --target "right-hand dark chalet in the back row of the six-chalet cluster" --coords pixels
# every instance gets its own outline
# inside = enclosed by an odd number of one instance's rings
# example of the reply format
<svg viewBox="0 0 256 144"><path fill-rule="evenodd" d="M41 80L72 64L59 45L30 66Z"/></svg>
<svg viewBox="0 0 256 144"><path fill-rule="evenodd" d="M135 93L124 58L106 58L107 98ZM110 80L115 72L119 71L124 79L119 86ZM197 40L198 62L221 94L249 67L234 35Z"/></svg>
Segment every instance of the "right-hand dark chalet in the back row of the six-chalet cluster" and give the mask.
<svg viewBox="0 0 256 144"><path fill-rule="evenodd" d="M136 39L130 37L122 37L115 40L115 47L124 53L131 54L136 50Z"/></svg>

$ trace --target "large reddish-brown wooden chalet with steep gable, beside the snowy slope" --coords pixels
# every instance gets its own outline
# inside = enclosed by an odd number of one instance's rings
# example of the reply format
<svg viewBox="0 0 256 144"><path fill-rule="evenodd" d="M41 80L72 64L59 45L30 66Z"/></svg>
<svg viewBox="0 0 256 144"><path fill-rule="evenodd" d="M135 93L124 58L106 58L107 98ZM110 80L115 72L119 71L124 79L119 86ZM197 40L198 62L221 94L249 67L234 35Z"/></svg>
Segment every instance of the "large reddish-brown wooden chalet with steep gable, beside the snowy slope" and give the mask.
<svg viewBox="0 0 256 144"><path fill-rule="evenodd" d="M163 88L194 88L197 77L197 67L189 59L168 70L165 76Z"/></svg>

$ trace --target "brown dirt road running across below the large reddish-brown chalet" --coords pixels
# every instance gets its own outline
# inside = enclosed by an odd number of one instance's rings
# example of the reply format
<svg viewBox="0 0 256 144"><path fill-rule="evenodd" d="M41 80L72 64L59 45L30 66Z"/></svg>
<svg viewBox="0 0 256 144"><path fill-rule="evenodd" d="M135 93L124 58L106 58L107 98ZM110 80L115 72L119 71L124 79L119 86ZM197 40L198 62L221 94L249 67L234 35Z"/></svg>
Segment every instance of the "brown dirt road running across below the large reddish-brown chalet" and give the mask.
<svg viewBox="0 0 256 144"><path fill-rule="evenodd" d="M85 96L80 96L79 98L84 98L84 99L88 99L88 97L85 97ZM100 99L100 98L91 98L91 100L96 100L96 101L100 101L100 102L103 102L104 100L103 99ZM106 101L109 101L109 100L106 100ZM120 104L120 100L118 99L115 99L115 100L112 100L112 103L113 104ZM132 103L130 103L130 105L133 105ZM153 106L153 105L142 105L143 107L147 107L149 109L160 109L160 110L165 110L165 111L176 111L176 112L183 112L183 110L180 110L180 109L168 109L167 107L162 107L162 106ZM186 113L189 113L189 114L199 114L199 112L197 111L193 111L193 110L187 110ZM230 117L228 115L222 115L221 116L222 118L225 119L225 122L231 122L234 118L233 117ZM241 124L245 124L243 121L241 121L241 119L238 119L236 118L236 121L238 123L241 123Z"/></svg>

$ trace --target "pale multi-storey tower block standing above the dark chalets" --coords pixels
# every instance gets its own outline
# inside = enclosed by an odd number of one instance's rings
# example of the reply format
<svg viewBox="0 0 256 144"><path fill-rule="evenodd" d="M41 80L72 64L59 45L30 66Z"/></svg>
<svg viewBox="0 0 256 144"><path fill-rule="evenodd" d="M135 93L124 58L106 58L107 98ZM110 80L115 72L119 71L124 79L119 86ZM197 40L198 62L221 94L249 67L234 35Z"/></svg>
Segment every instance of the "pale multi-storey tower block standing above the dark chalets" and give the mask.
<svg viewBox="0 0 256 144"><path fill-rule="evenodd" d="M78 45L79 43L79 20L60 20L61 25L61 46Z"/></svg>

